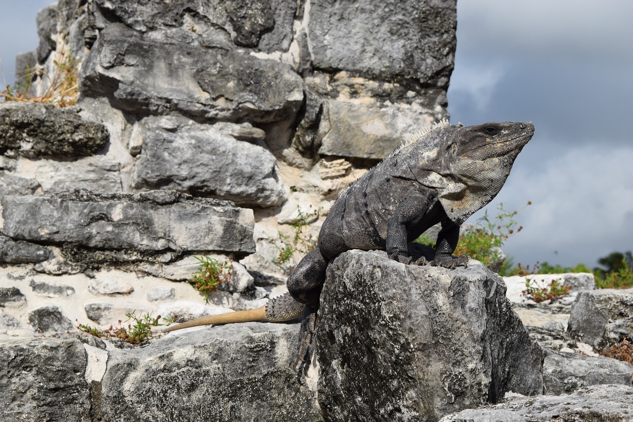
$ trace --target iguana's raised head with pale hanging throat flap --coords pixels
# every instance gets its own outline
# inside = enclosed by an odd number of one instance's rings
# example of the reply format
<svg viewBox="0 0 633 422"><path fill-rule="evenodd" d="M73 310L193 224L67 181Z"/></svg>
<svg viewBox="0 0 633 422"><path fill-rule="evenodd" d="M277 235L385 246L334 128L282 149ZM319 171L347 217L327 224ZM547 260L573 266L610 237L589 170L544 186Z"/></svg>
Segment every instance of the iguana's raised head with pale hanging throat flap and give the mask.
<svg viewBox="0 0 633 422"><path fill-rule="evenodd" d="M416 142L416 178L436 189L448 217L461 224L499 193L533 134L528 122L440 125Z"/></svg>

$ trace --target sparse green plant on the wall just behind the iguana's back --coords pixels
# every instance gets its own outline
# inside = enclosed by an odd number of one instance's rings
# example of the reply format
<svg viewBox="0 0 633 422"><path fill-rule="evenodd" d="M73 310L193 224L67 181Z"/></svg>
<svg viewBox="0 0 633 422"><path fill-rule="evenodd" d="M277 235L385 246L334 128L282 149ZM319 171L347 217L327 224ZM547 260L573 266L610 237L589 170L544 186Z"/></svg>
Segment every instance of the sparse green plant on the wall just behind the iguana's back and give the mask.
<svg viewBox="0 0 633 422"><path fill-rule="evenodd" d="M301 211L301 208L297 206L298 216L292 220L291 228L292 235L285 236L280 231L277 232L277 239L270 239L270 243L277 249L279 254L273 260L273 262L282 269L284 272L289 273L294 269L292 265L292 258L294 255L305 255L308 252L316 249L318 243L317 238L309 233L310 222L318 218L321 208L314 210L311 213Z"/></svg>

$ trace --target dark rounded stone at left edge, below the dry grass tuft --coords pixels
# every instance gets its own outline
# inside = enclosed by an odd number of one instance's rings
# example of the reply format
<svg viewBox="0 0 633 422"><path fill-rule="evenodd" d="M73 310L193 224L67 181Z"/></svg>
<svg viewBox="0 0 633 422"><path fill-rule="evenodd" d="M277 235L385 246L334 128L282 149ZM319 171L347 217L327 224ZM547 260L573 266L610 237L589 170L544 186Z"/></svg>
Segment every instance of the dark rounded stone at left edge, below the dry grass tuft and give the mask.
<svg viewBox="0 0 633 422"><path fill-rule="evenodd" d="M0 153L11 157L84 157L108 142L104 125L37 103L0 103Z"/></svg>

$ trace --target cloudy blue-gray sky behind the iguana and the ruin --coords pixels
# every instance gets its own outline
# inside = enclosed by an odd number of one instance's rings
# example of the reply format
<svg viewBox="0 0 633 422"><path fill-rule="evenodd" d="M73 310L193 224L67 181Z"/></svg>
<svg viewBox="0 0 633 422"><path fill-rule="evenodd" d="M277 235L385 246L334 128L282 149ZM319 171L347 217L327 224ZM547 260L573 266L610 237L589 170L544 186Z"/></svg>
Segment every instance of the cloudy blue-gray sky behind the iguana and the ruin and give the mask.
<svg viewBox="0 0 633 422"><path fill-rule="evenodd" d="M15 54L37 46L35 15L50 3L0 0L6 83ZM458 1L451 122L536 125L489 209L532 201L504 248L516 262L593 266L633 250L632 22L630 0Z"/></svg>

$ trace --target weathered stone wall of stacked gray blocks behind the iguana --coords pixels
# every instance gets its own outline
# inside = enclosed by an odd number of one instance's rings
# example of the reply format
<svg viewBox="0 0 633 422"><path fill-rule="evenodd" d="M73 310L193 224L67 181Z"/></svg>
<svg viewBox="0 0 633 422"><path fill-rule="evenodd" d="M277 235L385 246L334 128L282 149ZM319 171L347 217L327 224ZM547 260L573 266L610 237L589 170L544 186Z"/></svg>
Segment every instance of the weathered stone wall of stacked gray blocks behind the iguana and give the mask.
<svg viewBox="0 0 633 422"><path fill-rule="evenodd" d="M314 236L342 186L448 117L454 0L60 0L37 28L18 75L41 95L77 58L79 96L0 103L0 336L260 305L292 267L278 232L301 212ZM205 305L182 281L210 254L236 275Z"/></svg>

